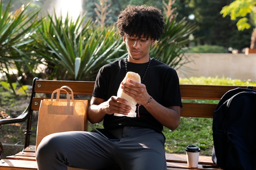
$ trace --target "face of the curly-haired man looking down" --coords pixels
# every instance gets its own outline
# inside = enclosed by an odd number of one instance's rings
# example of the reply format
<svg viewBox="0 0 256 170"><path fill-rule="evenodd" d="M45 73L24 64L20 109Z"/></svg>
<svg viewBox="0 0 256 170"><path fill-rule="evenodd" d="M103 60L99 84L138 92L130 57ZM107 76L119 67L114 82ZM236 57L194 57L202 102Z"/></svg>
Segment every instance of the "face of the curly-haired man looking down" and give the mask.
<svg viewBox="0 0 256 170"><path fill-rule="evenodd" d="M128 56L131 59L137 61L142 61L143 59L148 60L150 47L154 45L155 40L144 37L144 34L142 34L140 38L136 36L125 35L123 36L123 39L126 43Z"/></svg>

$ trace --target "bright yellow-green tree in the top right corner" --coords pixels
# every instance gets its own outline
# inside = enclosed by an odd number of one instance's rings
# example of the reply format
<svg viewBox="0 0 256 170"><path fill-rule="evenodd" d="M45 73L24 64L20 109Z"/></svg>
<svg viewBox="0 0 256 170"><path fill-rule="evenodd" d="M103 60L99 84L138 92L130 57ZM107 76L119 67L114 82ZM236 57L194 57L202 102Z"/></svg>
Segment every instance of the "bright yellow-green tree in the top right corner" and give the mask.
<svg viewBox="0 0 256 170"><path fill-rule="evenodd" d="M231 4L222 8L220 13L223 17L229 15L231 20L240 18L236 26L238 30L243 31L254 27L251 37L251 49L256 49L256 0L235 0Z"/></svg>

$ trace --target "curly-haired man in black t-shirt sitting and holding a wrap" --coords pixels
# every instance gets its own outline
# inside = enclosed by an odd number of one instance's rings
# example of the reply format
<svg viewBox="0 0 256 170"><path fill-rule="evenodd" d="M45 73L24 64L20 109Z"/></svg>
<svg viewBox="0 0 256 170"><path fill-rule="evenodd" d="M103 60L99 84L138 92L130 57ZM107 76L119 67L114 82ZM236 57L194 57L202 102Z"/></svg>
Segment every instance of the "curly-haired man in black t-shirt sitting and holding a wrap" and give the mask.
<svg viewBox="0 0 256 170"><path fill-rule="evenodd" d="M39 170L67 170L67 166L122 170L166 170L163 125L175 130L182 107L179 79L174 69L149 57L150 47L164 31L159 9L128 6L118 16L117 29L128 56L103 66L97 75L88 120L99 123L119 140L109 140L97 132L62 132L43 139L37 149ZM136 72L141 83L128 79ZM117 97L121 89L137 104L136 117L126 116L131 107ZM115 116L114 113L124 114Z"/></svg>

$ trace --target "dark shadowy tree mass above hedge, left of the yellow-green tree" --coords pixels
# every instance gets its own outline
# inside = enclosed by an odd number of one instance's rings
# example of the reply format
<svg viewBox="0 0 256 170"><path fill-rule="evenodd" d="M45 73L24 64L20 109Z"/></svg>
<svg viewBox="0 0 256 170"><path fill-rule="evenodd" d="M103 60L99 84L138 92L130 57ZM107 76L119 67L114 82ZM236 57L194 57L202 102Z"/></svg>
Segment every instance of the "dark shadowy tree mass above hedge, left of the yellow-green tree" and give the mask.
<svg viewBox="0 0 256 170"><path fill-rule="evenodd" d="M195 22L198 26L198 30L193 34L198 40L198 45L218 45L226 49L232 47L241 50L249 46L251 29L242 33L236 29L235 20L223 18L220 14L222 7L232 1L182 0L175 2L177 4L175 7L177 7L179 16L194 15L194 20L190 21Z"/></svg>

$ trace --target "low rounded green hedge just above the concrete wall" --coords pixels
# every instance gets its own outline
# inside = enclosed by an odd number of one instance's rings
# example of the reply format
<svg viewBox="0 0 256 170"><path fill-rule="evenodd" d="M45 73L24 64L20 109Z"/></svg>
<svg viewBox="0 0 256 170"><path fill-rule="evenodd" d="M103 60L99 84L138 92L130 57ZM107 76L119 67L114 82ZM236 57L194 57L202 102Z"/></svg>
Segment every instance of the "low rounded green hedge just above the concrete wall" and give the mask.
<svg viewBox="0 0 256 170"><path fill-rule="evenodd" d="M187 53L227 53L228 50L218 45L198 45L190 47Z"/></svg>

